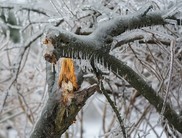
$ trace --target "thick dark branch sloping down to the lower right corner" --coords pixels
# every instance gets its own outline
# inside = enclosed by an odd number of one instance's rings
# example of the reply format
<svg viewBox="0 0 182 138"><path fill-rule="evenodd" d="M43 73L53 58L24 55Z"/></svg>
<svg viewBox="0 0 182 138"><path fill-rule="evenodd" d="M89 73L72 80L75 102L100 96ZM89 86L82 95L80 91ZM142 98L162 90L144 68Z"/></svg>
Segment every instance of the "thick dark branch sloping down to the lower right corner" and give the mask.
<svg viewBox="0 0 182 138"><path fill-rule="evenodd" d="M158 93L144 81L142 77L112 55L100 52L98 58L104 58L105 66L109 65L109 68L111 68L115 75L124 78L129 84L131 84L131 86L133 86L133 88L143 95L159 113L161 113L164 99L161 98ZM182 118L168 103L166 103L166 108L163 115L176 130L182 133Z"/></svg>

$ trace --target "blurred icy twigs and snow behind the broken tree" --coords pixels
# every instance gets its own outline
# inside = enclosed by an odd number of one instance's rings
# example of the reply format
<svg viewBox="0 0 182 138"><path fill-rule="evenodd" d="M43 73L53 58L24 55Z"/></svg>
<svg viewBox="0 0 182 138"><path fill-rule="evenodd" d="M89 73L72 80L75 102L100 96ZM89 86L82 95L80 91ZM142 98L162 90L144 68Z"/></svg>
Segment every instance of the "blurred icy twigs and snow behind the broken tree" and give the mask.
<svg viewBox="0 0 182 138"><path fill-rule="evenodd" d="M47 26L60 23L59 27L71 32L81 27L82 33L89 33L102 25L102 22L112 20L115 14L132 14L148 4L153 5L152 11L167 10L176 5L181 12L179 2L0 0L0 138L28 137L46 103L45 47L42 41ZM168 102L178 113L182 111L181 33L181 26L175 22L166 26L128 30L116 37L114 43L129 36L144 37L110 52L140 74L161 96L165 97L163 91L170 90ZM145 43L150 40L157 43ZM171 50L172 40L175 40L176 45ZM171 54L174 57L172 63ZM94 78L89 64L81 62L87 76ZM85 79L82 87L89 85L90 82ZM105 85L110 89L110 96L131 137L167 138L168 132L171 137L176 137L177 132L166 120L161 121L161 115L124 79L120 80L109 72L109 76L105 77ZM121 138L121 134L111 106L101 93L95 93L78 114L76 123L69 127L63 137Z"/></svg>

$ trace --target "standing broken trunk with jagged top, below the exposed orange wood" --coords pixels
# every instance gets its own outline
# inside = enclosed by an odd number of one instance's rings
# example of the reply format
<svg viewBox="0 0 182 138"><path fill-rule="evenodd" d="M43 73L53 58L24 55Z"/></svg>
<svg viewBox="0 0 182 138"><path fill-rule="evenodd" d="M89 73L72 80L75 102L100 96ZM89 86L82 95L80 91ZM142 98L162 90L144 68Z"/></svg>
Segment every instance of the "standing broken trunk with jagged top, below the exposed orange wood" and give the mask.
<svg viewBox="0 0 182 138"><path fill-rule="evenodd" d="M76 115L83 108L86 100L97 89L97 85L92 85L87 89L75 92L72 104L68 107L60 102L60 91L53 92L30 138L60 138L68 127L74 123Z"/></svg>

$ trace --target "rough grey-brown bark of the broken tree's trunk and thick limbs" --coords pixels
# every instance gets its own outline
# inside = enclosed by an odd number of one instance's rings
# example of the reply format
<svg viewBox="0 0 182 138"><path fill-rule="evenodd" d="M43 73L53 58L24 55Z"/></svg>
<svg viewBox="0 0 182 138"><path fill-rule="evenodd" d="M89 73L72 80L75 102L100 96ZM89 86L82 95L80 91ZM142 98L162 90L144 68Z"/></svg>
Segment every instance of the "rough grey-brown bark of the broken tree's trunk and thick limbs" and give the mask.
<svg viewBox="0 0 182 138"><path fill-rule="evenodd" d="M128 29L163 24L165 24L165 19L162 18L162 13L143 14L139 12L133 16L116 17L102 24L101 27L88 36L79 36L59 28L50 28L47 32L46 39L51 40L53 50L46 54L45 59L49 62L55 62L59 57L91 57L90 59L96 61L101 60L100 64L111 68L111 71L118 77L122 77L128 81L160 113L164 100L130 67L114 56L109 55L108 49L110 48L113 37ZM49 84L50 86L53 85L53 83ZM91 94L93 94L93 91L78 93L75 101L66 108L61 106L55 100L54 96L53 98L50 96L31 138L60 137L69 125L72 124L76 114ZM79 100L80 98L81 100ZM182 119L168 104L164 111L164 117L176 130L182 133Z"/></svg>

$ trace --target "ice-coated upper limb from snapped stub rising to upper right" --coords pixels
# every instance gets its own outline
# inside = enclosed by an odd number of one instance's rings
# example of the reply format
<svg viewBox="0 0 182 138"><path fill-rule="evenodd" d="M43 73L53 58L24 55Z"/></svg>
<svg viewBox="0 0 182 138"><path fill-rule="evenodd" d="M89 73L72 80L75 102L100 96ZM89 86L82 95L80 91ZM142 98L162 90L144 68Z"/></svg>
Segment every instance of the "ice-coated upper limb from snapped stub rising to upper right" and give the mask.
<svg viewBox="0 0 182 138"><path fill-rule="evenodd" d="M144 16L139 12L132 16L118 16L103 23L93 33L86 36L51 27L47 31L46 40L50 40L52 46L56 49L51 51L56 59L59 59L59 57L89 57L95 50L105 50L111 45L114 36L118 36L127 30L165 24L162 15L162 12L153 12Z"/></svg>

